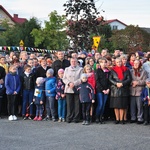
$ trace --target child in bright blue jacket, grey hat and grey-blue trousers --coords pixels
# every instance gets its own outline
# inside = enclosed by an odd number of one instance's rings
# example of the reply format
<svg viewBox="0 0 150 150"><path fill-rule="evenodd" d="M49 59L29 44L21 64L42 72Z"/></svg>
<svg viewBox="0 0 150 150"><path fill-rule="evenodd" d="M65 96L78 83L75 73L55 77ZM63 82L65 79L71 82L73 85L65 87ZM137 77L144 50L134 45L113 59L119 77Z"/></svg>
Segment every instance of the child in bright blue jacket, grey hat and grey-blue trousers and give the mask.
<svg viewBox="0 0 150 150"><path fill-rule="evenodd" d="M52 120L56 121L55 110L55 95L56 95L56 78L53 76L54 70L48 69L46 72L45 95L46 95L46 112L47 116L44 120L49 120L50 115Z"/></svg>

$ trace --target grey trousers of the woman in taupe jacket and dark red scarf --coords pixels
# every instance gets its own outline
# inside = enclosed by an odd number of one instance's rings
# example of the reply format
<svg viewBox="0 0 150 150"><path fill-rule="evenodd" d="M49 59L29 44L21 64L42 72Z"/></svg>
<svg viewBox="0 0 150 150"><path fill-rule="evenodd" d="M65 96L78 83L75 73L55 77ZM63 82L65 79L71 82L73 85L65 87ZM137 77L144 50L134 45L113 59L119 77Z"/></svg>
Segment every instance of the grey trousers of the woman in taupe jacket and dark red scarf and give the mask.
<svg viewBox="0 0 150 150"><path fill-rule="evenodd" d="M131 120L143 121L143 104L140 96L130 97L130 114Z"/></svg>

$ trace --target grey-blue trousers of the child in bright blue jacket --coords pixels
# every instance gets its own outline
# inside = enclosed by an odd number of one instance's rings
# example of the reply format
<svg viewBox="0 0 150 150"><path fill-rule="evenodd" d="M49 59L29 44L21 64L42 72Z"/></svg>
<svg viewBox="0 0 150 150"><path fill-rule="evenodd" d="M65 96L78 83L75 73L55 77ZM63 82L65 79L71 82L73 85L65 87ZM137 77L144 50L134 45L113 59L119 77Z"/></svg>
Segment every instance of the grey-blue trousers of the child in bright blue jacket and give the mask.
<svg viewBox="0 0 150 150"><path fill-rule="evenodd" d="M55 110L55 97L46 97L46 112L47 116L52 115L52 118L56 117L56 110Z"/></svg>

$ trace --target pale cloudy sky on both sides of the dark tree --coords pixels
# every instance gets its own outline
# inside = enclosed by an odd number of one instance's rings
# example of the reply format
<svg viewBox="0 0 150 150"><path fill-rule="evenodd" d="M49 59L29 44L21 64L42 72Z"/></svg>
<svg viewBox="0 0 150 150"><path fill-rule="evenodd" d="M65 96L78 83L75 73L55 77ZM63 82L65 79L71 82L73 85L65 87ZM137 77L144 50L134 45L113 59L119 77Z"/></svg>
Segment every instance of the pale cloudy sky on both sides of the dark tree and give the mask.
<svg viewBox="0 0 150 150"><path fill-rule="evenodd" d="M0 0L8 13L20 18L36 17L44 24L48 15L56 10L65 14L63 4L67 0ZM94 0L95 6L105 20L118 19L127 25L150 28L150 0ZM102 11L104 10L104 11Z"/></svg>

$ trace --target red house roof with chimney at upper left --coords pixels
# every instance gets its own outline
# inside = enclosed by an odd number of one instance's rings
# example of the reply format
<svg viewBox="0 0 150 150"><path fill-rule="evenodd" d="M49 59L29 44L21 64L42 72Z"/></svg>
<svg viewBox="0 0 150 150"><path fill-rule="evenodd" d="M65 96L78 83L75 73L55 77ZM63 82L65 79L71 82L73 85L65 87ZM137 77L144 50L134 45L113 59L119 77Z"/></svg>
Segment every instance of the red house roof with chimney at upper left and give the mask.
<svg viewBox="0 0 150 150"><path fill-rule="evenodd" d="M0 9L2 9L6 14L7 16L14 22L14 23L19 23L19 24L22 24L24 23L25 21L27 21L26 18L18 18L18 15L17 14L14 14L14 17L12 17L8 11L2 6L0 5Z"/></svg>

